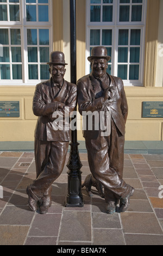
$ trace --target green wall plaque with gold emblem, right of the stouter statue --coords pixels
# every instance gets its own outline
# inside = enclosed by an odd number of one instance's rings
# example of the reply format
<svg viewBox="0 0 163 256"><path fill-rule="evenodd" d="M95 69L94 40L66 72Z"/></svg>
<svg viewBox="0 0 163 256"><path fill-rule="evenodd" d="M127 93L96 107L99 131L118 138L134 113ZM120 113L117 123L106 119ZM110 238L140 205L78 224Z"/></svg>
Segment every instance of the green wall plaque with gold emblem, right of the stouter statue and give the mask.
<svg viewBox="0 0 163 256"><path fill-rule="evenodd" d="M143 118L163 118L163 101L144 101Z"/></svg>

